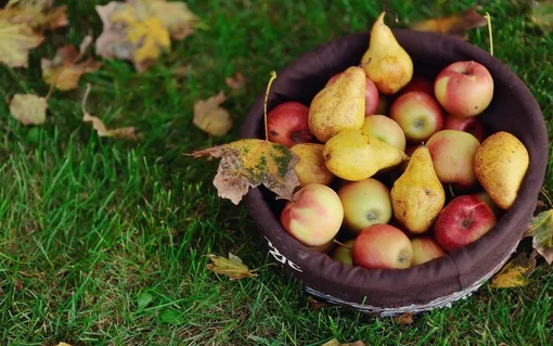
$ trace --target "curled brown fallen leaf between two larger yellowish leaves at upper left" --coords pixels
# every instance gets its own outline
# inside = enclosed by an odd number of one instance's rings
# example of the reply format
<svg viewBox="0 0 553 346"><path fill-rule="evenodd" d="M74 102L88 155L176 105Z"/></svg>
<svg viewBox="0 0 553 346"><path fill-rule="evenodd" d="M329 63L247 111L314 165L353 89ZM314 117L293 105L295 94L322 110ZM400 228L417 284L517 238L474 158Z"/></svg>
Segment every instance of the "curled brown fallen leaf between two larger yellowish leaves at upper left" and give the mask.
<svg viewBox="0 0 553 346"><path fill-rule="evenodd" d="M75 46L65 46L57 49L53 60L42 59L44 81L62 91L76 89L82 75L98 71L102 66L102 63L94 61L93 57L80 62L91 42L92 37L87 36L80 44L79 52Z"/></svg>

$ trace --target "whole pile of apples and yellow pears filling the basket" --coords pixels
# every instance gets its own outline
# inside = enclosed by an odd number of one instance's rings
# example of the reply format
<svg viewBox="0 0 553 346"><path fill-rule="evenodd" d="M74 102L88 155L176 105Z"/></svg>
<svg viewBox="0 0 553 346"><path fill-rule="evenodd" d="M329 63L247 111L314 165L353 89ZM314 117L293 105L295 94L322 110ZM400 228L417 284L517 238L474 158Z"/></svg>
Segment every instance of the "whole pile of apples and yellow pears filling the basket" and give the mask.
<svg viewBox="0 0 553 346"><path fill-rule="evenodd" d="M529 156L515 136L483 125L493 98L484 65L417 76L384 15L359 66L333 76L309 107L271 110L267 129L299 157L284 229L349 266L404 269L493 229Z"/></svg>

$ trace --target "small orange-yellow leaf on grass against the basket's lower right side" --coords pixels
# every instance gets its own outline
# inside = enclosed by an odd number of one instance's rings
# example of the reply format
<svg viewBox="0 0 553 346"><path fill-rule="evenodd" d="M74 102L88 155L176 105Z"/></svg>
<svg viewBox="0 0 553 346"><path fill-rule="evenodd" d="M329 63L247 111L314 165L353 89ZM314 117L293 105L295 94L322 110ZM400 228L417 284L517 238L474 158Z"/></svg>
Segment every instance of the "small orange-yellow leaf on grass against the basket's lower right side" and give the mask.
<svg viewBox="0 0 553 346"><path fill-rule="evenodd" d="M493 277L490 287L510 289L526 285L528 277L536 269L536 252L532 252L530 257L526 257L525 253L518 254Z"/></svg>

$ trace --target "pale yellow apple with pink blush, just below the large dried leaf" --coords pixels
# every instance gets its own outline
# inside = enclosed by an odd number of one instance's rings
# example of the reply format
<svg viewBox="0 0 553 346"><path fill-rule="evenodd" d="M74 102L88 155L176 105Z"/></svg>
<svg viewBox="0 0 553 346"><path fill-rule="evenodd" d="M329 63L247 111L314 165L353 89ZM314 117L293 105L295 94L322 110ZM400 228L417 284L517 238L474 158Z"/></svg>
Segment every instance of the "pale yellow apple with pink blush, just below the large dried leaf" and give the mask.
<svg viewBox="0 0 553 346"><path fill-rule="evenodd" d="M330 242L343 221L344 208L338 194L319 183L296 191L281 213L282 227L306 246Z"/></svg>

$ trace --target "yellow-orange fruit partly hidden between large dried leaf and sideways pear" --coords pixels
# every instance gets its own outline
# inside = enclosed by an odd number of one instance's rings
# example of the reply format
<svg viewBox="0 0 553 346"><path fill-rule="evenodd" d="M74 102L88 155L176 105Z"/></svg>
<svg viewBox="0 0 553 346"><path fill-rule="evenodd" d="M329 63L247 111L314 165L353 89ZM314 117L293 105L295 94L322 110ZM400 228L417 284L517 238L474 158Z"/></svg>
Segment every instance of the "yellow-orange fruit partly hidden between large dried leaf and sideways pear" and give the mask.
<svg viewBox="0 0 553 346"><path fill-rule="evenodd" d="M299 187L309 183L329 185L334 179L334 175L324 165L323 149L324 145L318 143L299 143L290 149L299 157L299 162L294 166Z"/></svg>

